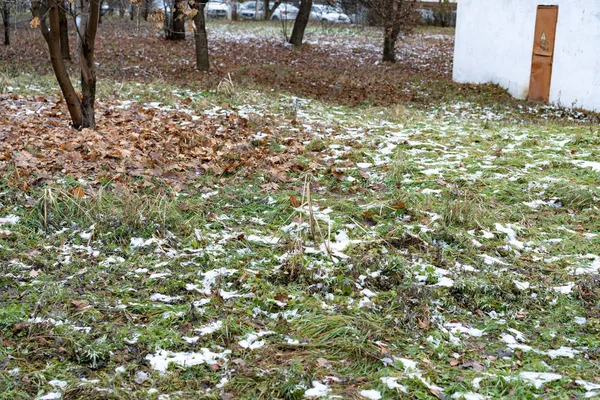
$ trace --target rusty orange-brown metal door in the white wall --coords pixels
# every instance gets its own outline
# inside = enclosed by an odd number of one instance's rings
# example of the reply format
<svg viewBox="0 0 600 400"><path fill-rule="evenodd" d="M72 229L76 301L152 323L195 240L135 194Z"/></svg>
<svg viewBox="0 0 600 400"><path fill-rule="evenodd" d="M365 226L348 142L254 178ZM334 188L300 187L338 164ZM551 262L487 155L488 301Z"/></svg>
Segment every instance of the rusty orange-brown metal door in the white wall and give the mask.
<svg viewBox="0 0 600 400"><path fill-rule="evenodd" d="M538 6L533 38L529 100L548 102L558 6Z"/></svg>

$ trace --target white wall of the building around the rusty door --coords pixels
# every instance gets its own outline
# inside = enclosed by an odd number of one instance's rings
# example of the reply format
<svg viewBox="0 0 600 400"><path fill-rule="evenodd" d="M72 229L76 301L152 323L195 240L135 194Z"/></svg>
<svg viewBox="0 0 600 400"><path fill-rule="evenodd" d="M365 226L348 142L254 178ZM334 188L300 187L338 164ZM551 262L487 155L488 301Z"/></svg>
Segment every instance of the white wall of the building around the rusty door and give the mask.
<svg viewBox="0 0 600 400"><path fill-rule="evenodd" d="M558 5L550 102L600 111L600 1L461 0L453 77L529 91L538 5Z"/></svg>

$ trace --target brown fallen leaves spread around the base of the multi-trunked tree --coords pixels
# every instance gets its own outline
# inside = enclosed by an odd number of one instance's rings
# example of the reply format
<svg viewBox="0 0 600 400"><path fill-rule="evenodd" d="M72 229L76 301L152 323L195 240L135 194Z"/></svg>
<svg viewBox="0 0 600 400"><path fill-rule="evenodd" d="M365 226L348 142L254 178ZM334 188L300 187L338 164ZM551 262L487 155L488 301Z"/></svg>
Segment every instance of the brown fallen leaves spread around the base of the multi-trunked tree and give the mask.
<svg viewBox="0 0 600 400"><path fill-rule="evenodd" d="M310 140L302 129L288 137L268 124L252 129L233 111L198 116L113 100L97 103L97 130L77 131L60 100L4 95L0 109L8 111L0 114L0 172L12 171L26 185L67 175L92 183L156 177L177 185L204 173L256 171L285 181L286 172L302 168L295 160Z"/></svg>

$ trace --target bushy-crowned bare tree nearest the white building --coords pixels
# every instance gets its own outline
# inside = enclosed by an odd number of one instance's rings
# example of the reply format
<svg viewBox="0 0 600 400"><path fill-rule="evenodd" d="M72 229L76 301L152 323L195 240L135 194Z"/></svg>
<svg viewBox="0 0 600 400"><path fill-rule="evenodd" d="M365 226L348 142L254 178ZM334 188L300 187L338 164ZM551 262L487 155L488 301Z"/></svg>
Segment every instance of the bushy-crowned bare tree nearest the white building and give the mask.
<svg viewBox="0 0 600 400"><path fill-rule="evenodd" d="M417 0L362 0L383 24L383 61L396 62L396 40L417 23Z"/></svg>

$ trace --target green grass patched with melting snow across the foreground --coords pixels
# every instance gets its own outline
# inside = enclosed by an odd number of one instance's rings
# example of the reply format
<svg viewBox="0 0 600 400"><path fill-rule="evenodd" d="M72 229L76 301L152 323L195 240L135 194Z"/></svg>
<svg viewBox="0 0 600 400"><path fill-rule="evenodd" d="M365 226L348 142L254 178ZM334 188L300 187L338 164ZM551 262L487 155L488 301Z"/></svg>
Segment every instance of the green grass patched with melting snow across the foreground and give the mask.
<svg viewBox="0 0 600 400"><path fill-rule="evenodd" d="M19 95L55 93L48 77L8 80ZM313 381L342 398L366 389L434 398L424 380L446 398L563 399L585 394L574 381L597 380L600 284L597 273L572 273L600 248L600 173L573 163L597 160L596 125L506 106L484 121L493 100L484 95L464 115L446 113L448 99L426 109L312 100L294 109L284 92L246 87L225 95L105 81L99 92L199 115L246 107L251 129L274 127L279 154L309 125L306 169L278 189L254 171L205 175L179 191L158 180L83 184L84 198L69 176L26 192L14 171L0 178L0 218L20 217L0 226L9 231L0 233L0 398L300 399ZM307 180L312 229L290 202L306 198ZM356 242L343 255L323 251L338 231ZM140 238L155 241L131 245ZM565 285L570 293L554 289ZM151 300L157 293L172 303ZM218 321L214 332L196 331ZM502 340L514 330L531 350ZM265 331L262 347L240 345ZM577 353L552 358L561 347ZM164 375L146 358L203 348L231 353L212 365L171 363ZM535 387L521 372L560 379Z"/></svg>

